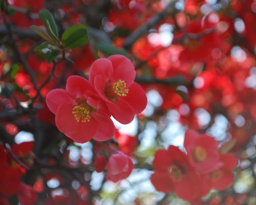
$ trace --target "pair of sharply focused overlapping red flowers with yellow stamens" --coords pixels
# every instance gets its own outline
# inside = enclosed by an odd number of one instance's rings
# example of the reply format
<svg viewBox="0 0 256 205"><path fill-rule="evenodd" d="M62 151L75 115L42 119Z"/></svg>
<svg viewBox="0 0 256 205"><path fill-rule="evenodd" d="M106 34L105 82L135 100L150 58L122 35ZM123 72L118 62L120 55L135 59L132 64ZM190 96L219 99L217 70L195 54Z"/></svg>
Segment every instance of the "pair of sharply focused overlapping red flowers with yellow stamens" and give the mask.
<svg viewBox="0 0 256 205"><path fill-rule="evenodd" d="M146 107L146 94L134 78L134 66L122 55L97 59L89 81L68 77L66 90L54 89L46 96L57 128L75 142L108 140L115 133L111 115L128 124Z"/></svg>

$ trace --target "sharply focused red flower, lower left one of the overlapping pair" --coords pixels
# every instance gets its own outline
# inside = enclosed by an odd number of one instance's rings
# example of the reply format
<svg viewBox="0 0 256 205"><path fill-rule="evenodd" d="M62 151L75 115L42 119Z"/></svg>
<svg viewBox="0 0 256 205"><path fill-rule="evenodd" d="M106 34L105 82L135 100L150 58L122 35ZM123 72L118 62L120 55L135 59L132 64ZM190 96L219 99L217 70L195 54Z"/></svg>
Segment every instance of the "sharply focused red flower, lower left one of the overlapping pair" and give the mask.
<svg viewBox="0 0 256 205"><path fill-rule="evenodd" d="M83 77L68 77L66 90L50 91L46 104L55 114L58 130L75 142L104 141L114 135L108 107Z"/></svg>

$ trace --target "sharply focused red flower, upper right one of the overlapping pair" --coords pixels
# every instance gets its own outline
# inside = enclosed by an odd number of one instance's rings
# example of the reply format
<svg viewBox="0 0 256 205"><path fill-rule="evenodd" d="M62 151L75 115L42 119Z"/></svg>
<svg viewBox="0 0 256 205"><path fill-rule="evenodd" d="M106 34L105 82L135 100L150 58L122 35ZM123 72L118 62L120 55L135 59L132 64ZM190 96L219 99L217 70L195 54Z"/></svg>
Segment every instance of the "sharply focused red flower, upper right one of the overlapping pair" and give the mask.
<svg viewBox="0 0 256 205"><path fill-rule="evenodd" d="M131 122L147 105L145 91L134 78L134 66L122 55L97 59L90 69L89 81L122 124Z"/></svg>

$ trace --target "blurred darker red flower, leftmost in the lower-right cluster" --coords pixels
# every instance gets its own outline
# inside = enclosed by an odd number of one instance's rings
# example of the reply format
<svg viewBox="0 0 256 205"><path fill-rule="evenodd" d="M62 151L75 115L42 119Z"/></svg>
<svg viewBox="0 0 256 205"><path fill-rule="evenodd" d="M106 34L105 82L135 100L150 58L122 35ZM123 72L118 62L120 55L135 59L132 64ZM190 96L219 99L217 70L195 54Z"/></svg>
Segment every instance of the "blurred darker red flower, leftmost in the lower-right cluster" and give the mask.
<svg viewBox="0 0 256 205"><path fill-rule="evenodd" d="M153 167L155 172L151 175L151 182L157 191L174 191L185 200L193 200L198 196L200 188L196 185L199 183L199 176L179 148L170 146L168 150L158 150Z"/></svg>

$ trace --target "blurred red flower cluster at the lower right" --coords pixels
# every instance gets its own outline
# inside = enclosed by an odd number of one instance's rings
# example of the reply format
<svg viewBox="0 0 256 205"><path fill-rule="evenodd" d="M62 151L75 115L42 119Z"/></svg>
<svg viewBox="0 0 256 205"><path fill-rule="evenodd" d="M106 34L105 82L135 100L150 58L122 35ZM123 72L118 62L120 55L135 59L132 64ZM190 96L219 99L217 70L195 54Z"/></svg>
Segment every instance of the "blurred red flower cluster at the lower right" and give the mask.
<svg viewBox="0 0 256 205"><path fill-rule="evenodd" d="M184 147L186 153L174 146L155 153L151 181L156 190L193 201L211 189L224 190L231 185L238 159L220 154L213 137L188 130Z"/></svg>

